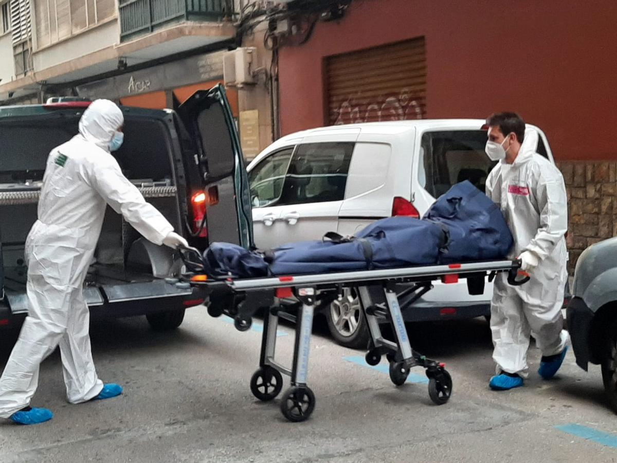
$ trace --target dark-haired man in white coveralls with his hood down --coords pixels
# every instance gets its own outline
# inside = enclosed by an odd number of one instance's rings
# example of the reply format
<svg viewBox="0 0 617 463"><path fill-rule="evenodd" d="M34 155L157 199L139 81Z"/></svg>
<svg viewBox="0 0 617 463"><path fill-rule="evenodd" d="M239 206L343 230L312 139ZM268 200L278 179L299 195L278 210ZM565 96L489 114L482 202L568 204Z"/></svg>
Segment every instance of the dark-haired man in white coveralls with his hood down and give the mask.
<svg viewBox="0 0 617 463"><path fill-rule="evenodd" d="M536 152L538 133L525 130L518 114L497 113L487 120L486 154L499 163L486 181L486 194L501 206L514 237L511 257L531 280L510 286L507 275L495 278L491 332L497 372L489 386L509 390L528 377L529 336L542 351L538 373L552 378L566 355L563 294L568 277L565 234L568 204L561 173Z"/></svg>

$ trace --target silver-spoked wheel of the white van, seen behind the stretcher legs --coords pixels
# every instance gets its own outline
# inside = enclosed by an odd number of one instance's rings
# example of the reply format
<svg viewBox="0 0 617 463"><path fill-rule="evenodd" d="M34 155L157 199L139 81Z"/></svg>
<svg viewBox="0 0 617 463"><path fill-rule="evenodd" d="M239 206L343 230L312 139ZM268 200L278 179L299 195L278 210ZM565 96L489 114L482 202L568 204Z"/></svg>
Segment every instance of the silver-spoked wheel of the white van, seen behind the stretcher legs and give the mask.
<svg viewBox="0 0 617 463"><path fill-rule="evenodd" d="M345 288L342 298L333 301L325 312L330 334L337 343L347 348L366 349L370 338L368 323L354 290Z"/></svg>

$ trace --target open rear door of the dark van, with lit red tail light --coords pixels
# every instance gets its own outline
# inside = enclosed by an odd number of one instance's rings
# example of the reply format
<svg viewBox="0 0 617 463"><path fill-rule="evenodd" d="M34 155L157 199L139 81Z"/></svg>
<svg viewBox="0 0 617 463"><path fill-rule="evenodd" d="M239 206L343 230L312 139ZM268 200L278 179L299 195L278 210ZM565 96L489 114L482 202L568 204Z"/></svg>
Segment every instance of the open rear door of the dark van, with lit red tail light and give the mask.
<svg viewBox="0 0 617 463"><path fill-rule="evenodd" d="M248 178L236 123L222 85L200 90L177 109L188 134L180 133L187 178L191 244L213 241L249 247L252 215Z"/></svg>

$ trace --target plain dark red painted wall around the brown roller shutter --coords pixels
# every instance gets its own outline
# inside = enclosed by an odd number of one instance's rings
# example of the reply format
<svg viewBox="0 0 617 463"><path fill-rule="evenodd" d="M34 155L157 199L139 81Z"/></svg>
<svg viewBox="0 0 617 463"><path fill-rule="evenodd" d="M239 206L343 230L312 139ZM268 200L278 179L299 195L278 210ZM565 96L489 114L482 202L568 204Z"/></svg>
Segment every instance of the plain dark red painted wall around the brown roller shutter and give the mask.
<svg viewBox="0 0 617 463"><path fill-rule="evenodd" d="M518 111L560 161L615 159L616 17L615 0L356 1L281 49L282 131L326 123L325 56L424 36L428 117Z"/></svg>

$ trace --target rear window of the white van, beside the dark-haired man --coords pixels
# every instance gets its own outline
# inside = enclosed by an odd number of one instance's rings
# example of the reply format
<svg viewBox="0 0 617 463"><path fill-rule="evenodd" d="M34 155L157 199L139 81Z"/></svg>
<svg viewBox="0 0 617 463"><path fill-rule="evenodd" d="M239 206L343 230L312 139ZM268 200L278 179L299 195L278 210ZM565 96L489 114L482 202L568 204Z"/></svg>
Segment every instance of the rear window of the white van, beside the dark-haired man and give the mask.
<svg viewBox="0 0 617 463"><path fill-rule="evenodd" d="M469 180L484 192L486 178L495 166L484 147L486 131L452 130L427 132L422 135L420 148L421 167L419 179L426 191L434 198L446 193L452 185ZM536 148L542 156L547 156L546 148L539 138Z"/></svg>

